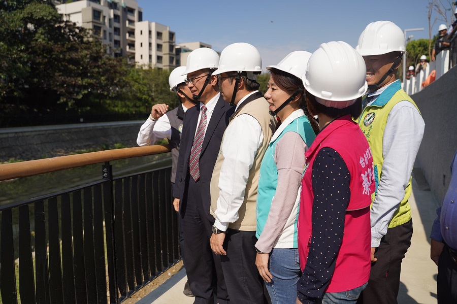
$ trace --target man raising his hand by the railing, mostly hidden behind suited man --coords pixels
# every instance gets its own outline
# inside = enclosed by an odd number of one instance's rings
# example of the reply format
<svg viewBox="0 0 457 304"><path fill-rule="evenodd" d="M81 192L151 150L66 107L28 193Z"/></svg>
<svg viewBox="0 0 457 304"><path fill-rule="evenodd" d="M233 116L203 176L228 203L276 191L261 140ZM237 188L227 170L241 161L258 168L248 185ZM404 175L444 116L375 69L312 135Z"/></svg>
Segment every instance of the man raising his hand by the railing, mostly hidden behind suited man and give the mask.
<svg viewBox="0 0 457 304"><path fill-rule="evenodd" d="M162 139L168 139L168 143L172 148L172 189L176 178L176 166L178 163L179 144L181 142L182 121L184 119L184 114L186 113L187 109L195 106L195 103L197 103L191 97L192 94L190 93L190 90L185 83L185 75L181 75L185 70L185 66L178 66L170 73L170 77L168 78L170 91L175 92L176 96L178 96L180 102L179 106L169 112L167 112L167 104L156 104L152 106L151 114L149 114L149 118L141 126L137 137L138 146L149 146ZM179 221L179 230L179 244L181 247L181 255L185 267L185 254L183 251L183 232L181 221ZM186 282L184 285L183 293L187 296L193 296L188 282Z"/></svg>

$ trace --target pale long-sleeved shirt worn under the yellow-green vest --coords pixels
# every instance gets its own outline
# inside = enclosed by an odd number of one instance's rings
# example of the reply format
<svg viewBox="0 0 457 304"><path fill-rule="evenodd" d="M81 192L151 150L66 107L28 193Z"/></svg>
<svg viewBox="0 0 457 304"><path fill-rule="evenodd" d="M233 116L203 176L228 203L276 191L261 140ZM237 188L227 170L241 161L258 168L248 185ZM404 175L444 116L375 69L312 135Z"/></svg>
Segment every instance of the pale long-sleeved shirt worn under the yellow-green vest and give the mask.
<svg viewBox="0 0 457 304"><path fill-rule="evenodd" d="M373 99L368 105L390 85L370 93L368 97ZM371 209L372 247L379 247L390 220L405 197L404 187L411 177L424 128L422 116L407 100L399 102L389 113L382 137L382 177Z"/></svg>

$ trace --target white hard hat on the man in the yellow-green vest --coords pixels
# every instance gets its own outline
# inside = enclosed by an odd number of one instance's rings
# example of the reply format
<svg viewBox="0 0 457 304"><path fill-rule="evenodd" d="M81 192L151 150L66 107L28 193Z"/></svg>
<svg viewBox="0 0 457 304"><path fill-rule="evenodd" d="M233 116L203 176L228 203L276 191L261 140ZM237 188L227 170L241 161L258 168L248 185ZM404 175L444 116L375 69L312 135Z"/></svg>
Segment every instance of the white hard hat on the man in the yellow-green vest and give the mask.
<svg viewBox="0 0 457 304"><path fill-rule="evenodd" d="M394 22L372 22L361 33L355 49L362 56L382 55L390 52L406 53L405 35Z"/></svg>

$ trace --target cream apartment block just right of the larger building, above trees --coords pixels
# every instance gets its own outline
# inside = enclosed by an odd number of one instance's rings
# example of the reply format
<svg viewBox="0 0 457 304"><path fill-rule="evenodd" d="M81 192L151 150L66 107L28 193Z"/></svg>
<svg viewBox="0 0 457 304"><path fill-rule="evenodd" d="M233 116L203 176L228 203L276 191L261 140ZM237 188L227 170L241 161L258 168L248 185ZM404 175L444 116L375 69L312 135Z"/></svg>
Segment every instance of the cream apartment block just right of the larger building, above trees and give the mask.
<svg viewBox="0 0 457 304"><path fill-rule="evenodd" d="M141 21L135 25L135 61L144 67L174 69L176 35L170 26L157 22Z"/></svg>

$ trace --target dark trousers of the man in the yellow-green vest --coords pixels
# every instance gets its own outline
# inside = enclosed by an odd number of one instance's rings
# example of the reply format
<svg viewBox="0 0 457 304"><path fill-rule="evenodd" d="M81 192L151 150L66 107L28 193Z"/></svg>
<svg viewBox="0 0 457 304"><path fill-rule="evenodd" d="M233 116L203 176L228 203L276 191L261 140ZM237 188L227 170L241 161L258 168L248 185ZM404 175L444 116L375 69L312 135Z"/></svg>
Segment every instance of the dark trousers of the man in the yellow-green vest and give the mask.
<svg viewBox="0 0 457 304"><path fill-rule="evenodd" d="M396 304L400 288L402 260L411 246L413 233L412 220L387 229L381 244L375 252L378 259L371 264L367 288L357 300L357 304Z"/></svg>

